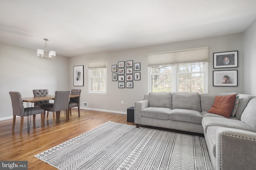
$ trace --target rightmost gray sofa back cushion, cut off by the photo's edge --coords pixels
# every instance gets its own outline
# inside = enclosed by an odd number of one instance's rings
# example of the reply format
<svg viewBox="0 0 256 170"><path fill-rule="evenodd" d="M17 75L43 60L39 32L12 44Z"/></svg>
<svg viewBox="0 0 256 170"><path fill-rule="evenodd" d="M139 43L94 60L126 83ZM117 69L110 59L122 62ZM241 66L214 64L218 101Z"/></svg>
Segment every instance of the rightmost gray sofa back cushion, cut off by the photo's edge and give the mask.
<svg viewBox="0 0 256 170"><path fill-rule="evenodd" d="M250 100L241 116L241 121L256 131L256 98Z"/></svg>

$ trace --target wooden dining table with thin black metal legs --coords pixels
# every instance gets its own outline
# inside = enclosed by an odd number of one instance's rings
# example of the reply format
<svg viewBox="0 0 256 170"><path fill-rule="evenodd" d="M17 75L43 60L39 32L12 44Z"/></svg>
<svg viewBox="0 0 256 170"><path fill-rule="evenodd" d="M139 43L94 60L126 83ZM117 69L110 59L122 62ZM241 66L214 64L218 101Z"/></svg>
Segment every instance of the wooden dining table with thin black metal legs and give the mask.
<svg viewBox="0 0 256 170"><path fill-rule="evenodd" d="M22 98L23 102L27 102L27 107L32 107L32 104L34 102L39 102L39 101L43 101L43 100L54 100L55 96L52 95L47 95L47 96L40 96L40 97L29 97L29 98ZM69 95L69 98L77 98L80 97L80 95ZM31 106L30 106L31 103ZM68 113L66 113L68 114ZM60 118L60 111L58 113L56 113L56 119L58 120L58 118ZM41 117L42 119L42 117ZM30 132L30 121L31 121L31 111L29 113L29 109L28 109L28 116L27 116L27 124L28 124L28 133ZM43 126L43 125L42 125Z"/></svg>

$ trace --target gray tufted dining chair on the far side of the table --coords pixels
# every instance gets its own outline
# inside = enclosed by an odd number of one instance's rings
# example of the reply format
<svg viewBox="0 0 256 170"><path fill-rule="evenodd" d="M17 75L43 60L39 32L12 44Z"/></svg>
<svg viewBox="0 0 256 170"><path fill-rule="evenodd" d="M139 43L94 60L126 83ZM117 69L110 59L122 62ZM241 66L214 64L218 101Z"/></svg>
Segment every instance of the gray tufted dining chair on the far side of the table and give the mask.
<svg viewBox="0 0 256 170"><path fill-rule="evenodd" d="M41 96L47 96L49 94L48 89L34 89L33 90L34 97L41 97ZM49 100L43 100L43 101L38 101L34 102L34 107L38 107L42 109L44 106L50 106L50 101ZM49 111L47 111L47 117L48 117Z"/></svg>

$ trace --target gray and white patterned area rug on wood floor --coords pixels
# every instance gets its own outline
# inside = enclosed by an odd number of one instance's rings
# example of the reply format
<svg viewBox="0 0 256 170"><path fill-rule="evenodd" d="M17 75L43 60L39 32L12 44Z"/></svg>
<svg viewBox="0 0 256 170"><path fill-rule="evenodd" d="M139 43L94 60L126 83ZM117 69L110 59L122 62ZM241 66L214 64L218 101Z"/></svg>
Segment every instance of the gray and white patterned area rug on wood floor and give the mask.
<svg viewBox="0 0 256 170"><path fill-rule="evenodd" d="M61 170L211 170L203 137L107 122L36 158Z"/></svg>

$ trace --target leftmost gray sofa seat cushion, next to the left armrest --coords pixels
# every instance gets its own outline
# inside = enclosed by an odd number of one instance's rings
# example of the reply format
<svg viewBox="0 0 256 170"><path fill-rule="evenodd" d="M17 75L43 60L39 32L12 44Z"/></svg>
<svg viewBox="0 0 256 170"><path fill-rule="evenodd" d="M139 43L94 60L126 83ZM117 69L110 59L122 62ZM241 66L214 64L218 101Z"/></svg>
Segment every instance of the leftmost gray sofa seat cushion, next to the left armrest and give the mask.
<svg viewBox="0 0 256 170"><path fill-rule="evenodd" d="M141 115L142 117L169 120L171 110L166 107L147 107L142 110Z"/></svg>

